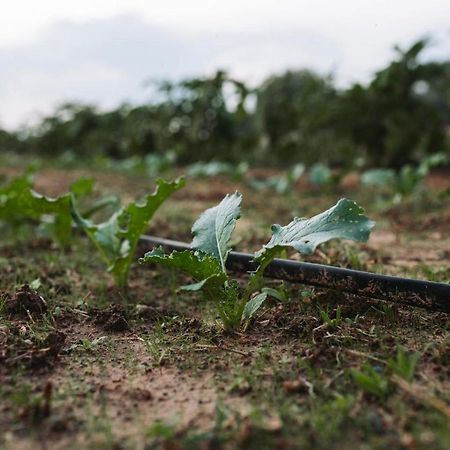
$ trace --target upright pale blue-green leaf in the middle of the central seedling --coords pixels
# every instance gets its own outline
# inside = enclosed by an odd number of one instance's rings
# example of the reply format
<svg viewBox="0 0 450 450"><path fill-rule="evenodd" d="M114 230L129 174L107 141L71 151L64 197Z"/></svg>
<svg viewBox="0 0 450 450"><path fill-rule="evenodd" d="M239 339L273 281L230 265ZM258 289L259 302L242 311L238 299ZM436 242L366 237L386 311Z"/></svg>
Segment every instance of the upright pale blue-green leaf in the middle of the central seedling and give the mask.
<svg viewBox="0 0 450 450"><path fill-rule="evenodd" d="M231 234L241 213L242 195L228 194L217 206L207 209L194 223L192 247L213 255L225 272Z"/></svg>

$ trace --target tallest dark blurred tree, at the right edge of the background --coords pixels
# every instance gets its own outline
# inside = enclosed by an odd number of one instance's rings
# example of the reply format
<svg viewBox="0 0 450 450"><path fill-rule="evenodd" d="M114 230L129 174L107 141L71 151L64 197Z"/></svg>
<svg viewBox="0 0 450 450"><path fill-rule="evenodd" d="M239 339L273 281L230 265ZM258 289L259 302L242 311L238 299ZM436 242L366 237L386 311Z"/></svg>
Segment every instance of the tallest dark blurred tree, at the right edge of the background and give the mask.
<svg viewBox="0 0 450 450"><path fill-rule="evenodd" d="M448 150L445 127L450 85L446 64L420 62L428 41L406 51L363 87L343 92L335 123L348 134L369 165L400 167L425 155Z"/></svg>

